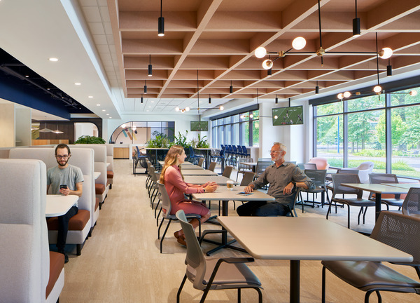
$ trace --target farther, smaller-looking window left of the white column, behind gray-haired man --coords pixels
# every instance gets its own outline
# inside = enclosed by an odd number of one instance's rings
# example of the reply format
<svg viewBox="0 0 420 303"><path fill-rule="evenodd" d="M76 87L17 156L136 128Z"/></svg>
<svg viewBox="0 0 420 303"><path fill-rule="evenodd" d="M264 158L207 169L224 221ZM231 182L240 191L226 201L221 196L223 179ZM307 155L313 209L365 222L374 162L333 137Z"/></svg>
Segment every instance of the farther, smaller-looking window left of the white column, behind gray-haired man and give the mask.
<svg viewBox="0 0 420 303"><path fill-rule="evenodd" d="M260 143L259 111L248 110L211 120L211 145L257 146Z"/></svg>

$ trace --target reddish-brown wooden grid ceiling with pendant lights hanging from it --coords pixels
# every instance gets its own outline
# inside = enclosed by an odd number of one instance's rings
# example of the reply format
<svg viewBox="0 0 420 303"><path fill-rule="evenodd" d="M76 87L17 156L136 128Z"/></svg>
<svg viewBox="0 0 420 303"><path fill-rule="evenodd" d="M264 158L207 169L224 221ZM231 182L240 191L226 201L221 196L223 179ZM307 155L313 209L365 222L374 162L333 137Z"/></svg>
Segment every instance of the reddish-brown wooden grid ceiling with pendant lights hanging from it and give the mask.
<svg viewBox="0 0 420 303"><path fill-rule="evenodd" d="M165 36L158 36L160 1L108 1L125 97L215 98L296 97L377 74L376 55L337 55L328 51L375 52L393 49L393 71L420 62L420 0L358 0L361 36L352 36L355 1L322 0L322 44L316 54L286 55L272 76L253 50L278 52L293 39L307 39L301 51L320 46L316 0L163 0ZM148 76L149 55L153 76ZM273 57L272 57L273 59ZM380 76L388 60L379 59ZM144 95L144 85L148 87ZM233 93L230 93L230 86Z"/></svg>

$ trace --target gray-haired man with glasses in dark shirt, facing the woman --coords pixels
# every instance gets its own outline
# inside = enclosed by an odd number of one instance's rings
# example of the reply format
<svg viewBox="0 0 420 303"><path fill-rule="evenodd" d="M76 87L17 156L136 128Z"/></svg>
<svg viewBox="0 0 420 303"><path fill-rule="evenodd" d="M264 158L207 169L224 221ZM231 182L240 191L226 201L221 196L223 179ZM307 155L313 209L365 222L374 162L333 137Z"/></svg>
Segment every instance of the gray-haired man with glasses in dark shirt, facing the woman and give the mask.
<svg viewBox="0 0 420 303"><path fill-rule="evenodd" d="M274 142L270 155L274 164L268 166L264 173L257 180L248 184L244 191L252 192L267 184L269 188L267 194L274 196L276 201L267 203L267 201L249 201L237 208L240 216L277 216L288 215L288 205L293 206L296 188L314 189L315 184L304 174L304 172L293 163L285 163L284 155L286 146L279 142Z"/></svg>

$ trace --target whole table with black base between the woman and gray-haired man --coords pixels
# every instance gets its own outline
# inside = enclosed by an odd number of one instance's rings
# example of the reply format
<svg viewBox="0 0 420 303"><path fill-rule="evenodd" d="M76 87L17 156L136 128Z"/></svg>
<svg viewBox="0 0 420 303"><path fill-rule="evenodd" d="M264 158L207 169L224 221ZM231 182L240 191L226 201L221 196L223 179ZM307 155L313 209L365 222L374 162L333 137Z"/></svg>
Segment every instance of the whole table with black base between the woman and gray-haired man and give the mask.
<svg viewBox="0 0 420 303"><path fill-rule="evenodd" d="M245 187L234 187L232 190L228 189L228 187L218 187L216 191L212 193L203 193L203 194L193 194L193 198L199 201L222 201L222 215L228 216L228 202L229 201L274 201L275 198L269 196L262 191L255 190L253 194L248 196L242 196L237 193L244 191ZM221 248L231 248L234 250L244 251L241 248L237 248L236 246L232 246L230 244L236 242L236 240L228 242L228 234L222 234L222 243L216 243L213 241L208 241L210 243L214 243L219 245L218 247L209 250L206 254L211 255L215 253L217 250Z"/></svg>

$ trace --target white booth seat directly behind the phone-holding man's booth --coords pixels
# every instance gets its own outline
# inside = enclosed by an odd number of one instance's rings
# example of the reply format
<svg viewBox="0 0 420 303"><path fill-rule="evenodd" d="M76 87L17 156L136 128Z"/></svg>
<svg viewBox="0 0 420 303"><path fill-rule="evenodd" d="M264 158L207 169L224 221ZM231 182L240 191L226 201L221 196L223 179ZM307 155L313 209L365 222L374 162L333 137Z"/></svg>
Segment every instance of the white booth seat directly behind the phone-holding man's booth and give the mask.
<svg viewBox="0 0 420 303"><path fill-rule="evenodd" d="M105 144L76 144L77 148L91 148L94 150L94 171L101 173L99 177L94 180L96 197L99 198L99 203L105 201L108 194L109 187L106 184L106 146Z"/></svg>

